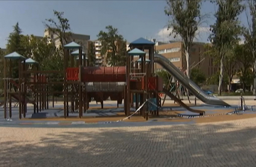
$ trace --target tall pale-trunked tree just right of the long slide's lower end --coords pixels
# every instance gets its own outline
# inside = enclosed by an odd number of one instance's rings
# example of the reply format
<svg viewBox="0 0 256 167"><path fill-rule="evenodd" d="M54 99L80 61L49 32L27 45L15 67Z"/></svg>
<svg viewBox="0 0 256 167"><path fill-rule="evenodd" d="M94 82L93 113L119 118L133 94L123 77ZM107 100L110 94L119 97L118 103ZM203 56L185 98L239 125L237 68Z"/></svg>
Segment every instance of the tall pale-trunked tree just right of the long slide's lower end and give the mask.
<svg viewBox="0 0 256 167"><path fill-rule="evenodd" d="M210 26L209 40L213 46L210 47L209 52L220 64L218 91L221 95L225 70L224 62L231 47L239 41L242 27L238 16L242 13L244 5L242 5L242 0L216 0L213 3L217 4L218 10L214 14L216 23Z"/></svg>

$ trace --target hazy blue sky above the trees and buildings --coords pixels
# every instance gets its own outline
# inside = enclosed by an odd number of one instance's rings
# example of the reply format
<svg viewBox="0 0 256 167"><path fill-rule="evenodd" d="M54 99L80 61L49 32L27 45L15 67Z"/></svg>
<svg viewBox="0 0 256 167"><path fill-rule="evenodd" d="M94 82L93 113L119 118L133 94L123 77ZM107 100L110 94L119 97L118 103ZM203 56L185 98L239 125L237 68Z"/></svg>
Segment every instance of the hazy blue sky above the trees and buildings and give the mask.
<svg viewBox="0 0 256 167"><path fill-rule="evenodd" d="M165 6L166 1L160 0L0 1L0 47L5 48L8 35L17 22L23 34L43 36L43 21L54 18L53 10L64 12L73 33L90 35L91 40L96 40L99 31L104 31L108 25L117 28L128 42L146 36L157 41L173 40L169 37L170 29L167 31L169 18L164 14ZM196 41L207 42L208 27L215 22L215 11L216 7L210 2L202 4L201 12L208 14L208 19L199 28ZM240 17L246 24L245 14Z"/></svg>

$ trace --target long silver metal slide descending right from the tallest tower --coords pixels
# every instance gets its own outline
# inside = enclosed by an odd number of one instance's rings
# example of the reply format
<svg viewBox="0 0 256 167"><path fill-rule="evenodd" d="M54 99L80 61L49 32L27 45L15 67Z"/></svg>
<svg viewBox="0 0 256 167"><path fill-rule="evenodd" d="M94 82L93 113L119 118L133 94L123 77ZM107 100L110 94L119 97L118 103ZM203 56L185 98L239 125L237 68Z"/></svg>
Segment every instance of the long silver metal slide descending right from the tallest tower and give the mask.
<svg viewBox="0 0 256 167"><path fill-rule="evenodd" d="M198 99L208 105L221 105L230 106L222 100L214 96L209 96L201 88L196 85L192 80L187 78L184 73L178 70L169 59L165 58L163 55L154 54L154 62L160 64L166 71L168 71L173 77L175 77L184 87L186 87L192 94L194 94Z"/></svg>

